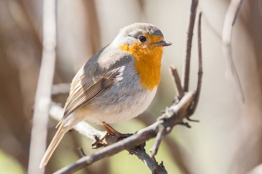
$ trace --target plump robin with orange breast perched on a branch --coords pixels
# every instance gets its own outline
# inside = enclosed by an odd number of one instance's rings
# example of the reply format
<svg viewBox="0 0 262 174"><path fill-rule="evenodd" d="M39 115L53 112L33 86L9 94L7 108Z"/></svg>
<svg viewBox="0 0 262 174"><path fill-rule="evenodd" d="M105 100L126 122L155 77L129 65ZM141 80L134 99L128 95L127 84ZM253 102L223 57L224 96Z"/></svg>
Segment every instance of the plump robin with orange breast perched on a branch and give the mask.
<svg viewBox="0 0 262 174"><path fill-rule="evenodd" d="M163 47L169 45L153 24L133 23L120 29L73 78L63 117L39 167L46 166L64 134L81 121L102 124L105 136L120 137L109 124L146 110L160 82Z"/></svg>

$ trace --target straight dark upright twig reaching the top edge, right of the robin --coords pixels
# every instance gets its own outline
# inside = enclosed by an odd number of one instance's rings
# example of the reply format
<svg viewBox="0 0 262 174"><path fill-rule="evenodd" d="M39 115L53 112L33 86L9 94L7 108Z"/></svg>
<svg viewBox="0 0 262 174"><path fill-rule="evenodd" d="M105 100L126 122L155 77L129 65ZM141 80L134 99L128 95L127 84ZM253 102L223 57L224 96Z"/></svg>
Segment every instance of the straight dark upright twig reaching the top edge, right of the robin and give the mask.
<svg viewBox="0 0 262 174"><path fill-rule="evenodd" d="M182 73L182 87L185 92L188 91L188 87L189 87L191 46L192 46L192 37L193 37L193 30L194 30L194 25L195 25L197 7L198 7L198 0L192 0L189 20L188 20L189 22L188 29L186 33L186 48L185 48L186 51L185 51L183 73Z"/></svg>

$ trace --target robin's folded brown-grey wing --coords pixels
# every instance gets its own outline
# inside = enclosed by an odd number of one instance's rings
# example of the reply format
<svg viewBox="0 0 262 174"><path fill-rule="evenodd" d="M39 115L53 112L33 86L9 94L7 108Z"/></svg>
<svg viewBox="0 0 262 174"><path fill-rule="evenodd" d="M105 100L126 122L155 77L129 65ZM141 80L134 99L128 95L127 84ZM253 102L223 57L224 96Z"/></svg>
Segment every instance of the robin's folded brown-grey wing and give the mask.
<svg viewBox="0 0 262 174"><path fill-rule="evenodd" d="M65 120L68 115L76 109L84 106L96 95L106 90L114 83L116 76L119 76L119 69L123 64L131 61L130 57L123 56L115 59L115 54L105 57L106 48L100 50L78 71L72 80L69 96L64 106L64 116L56 127ZM109 50L110 51L110 50ZM112 59L116 61L112 61ZM114 63L111 63L114 62Z"/></svg>

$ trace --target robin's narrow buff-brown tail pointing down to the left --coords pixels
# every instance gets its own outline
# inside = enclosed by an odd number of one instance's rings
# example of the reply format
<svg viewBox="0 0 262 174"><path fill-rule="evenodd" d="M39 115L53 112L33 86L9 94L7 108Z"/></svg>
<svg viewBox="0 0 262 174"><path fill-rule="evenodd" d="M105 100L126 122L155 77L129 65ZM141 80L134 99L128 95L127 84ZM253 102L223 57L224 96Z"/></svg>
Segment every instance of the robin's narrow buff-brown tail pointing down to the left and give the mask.
<svg viewBox="0 0 262 174"><path fill-rule="evenodd" d="M61 141L61 139L63 138L64 134L66 133L67 131L65 130L65 127L64 127L64 124L63 122L60 124L57 132L55 133L51 143L49 144L47 150L45 151L45 154L41 160L41 163L40 163L40 166L39 168L42 168L44 167L49 159L51 158L55 148L57 147L57 145L59 144L59 142Z"/></svg>

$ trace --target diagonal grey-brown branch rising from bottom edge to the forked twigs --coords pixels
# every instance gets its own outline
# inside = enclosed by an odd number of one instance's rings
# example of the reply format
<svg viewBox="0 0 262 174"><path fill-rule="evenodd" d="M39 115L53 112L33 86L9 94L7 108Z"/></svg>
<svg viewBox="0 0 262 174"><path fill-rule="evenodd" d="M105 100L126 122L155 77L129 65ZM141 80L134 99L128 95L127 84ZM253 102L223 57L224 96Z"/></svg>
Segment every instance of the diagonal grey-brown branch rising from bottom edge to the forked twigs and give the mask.
<svg viewBox="0 0 262 174"><path fill-rule="evenodd" d="M134 146L142 144L143 142L153 137L156 137L156 130L159 127L159 125L162 124L166 129L168 127L173 127L179 124L180 122L182 122L184 118L187 117L188 107L192 103L193 98L194 98L194 92L190 91L186 93L177 104L172 104L169 108L167 108L166 112L161 116L162 119L158 119L152 125L144 129L141 129L136 134L124 140L116 142L115 144L107 146L95 152L92 155L77 160L73 164L60 169L54 174L69 174L69 173L76 172L105 157L112 156L115 153L118 153L125 149L132 148Z"/></svg>

